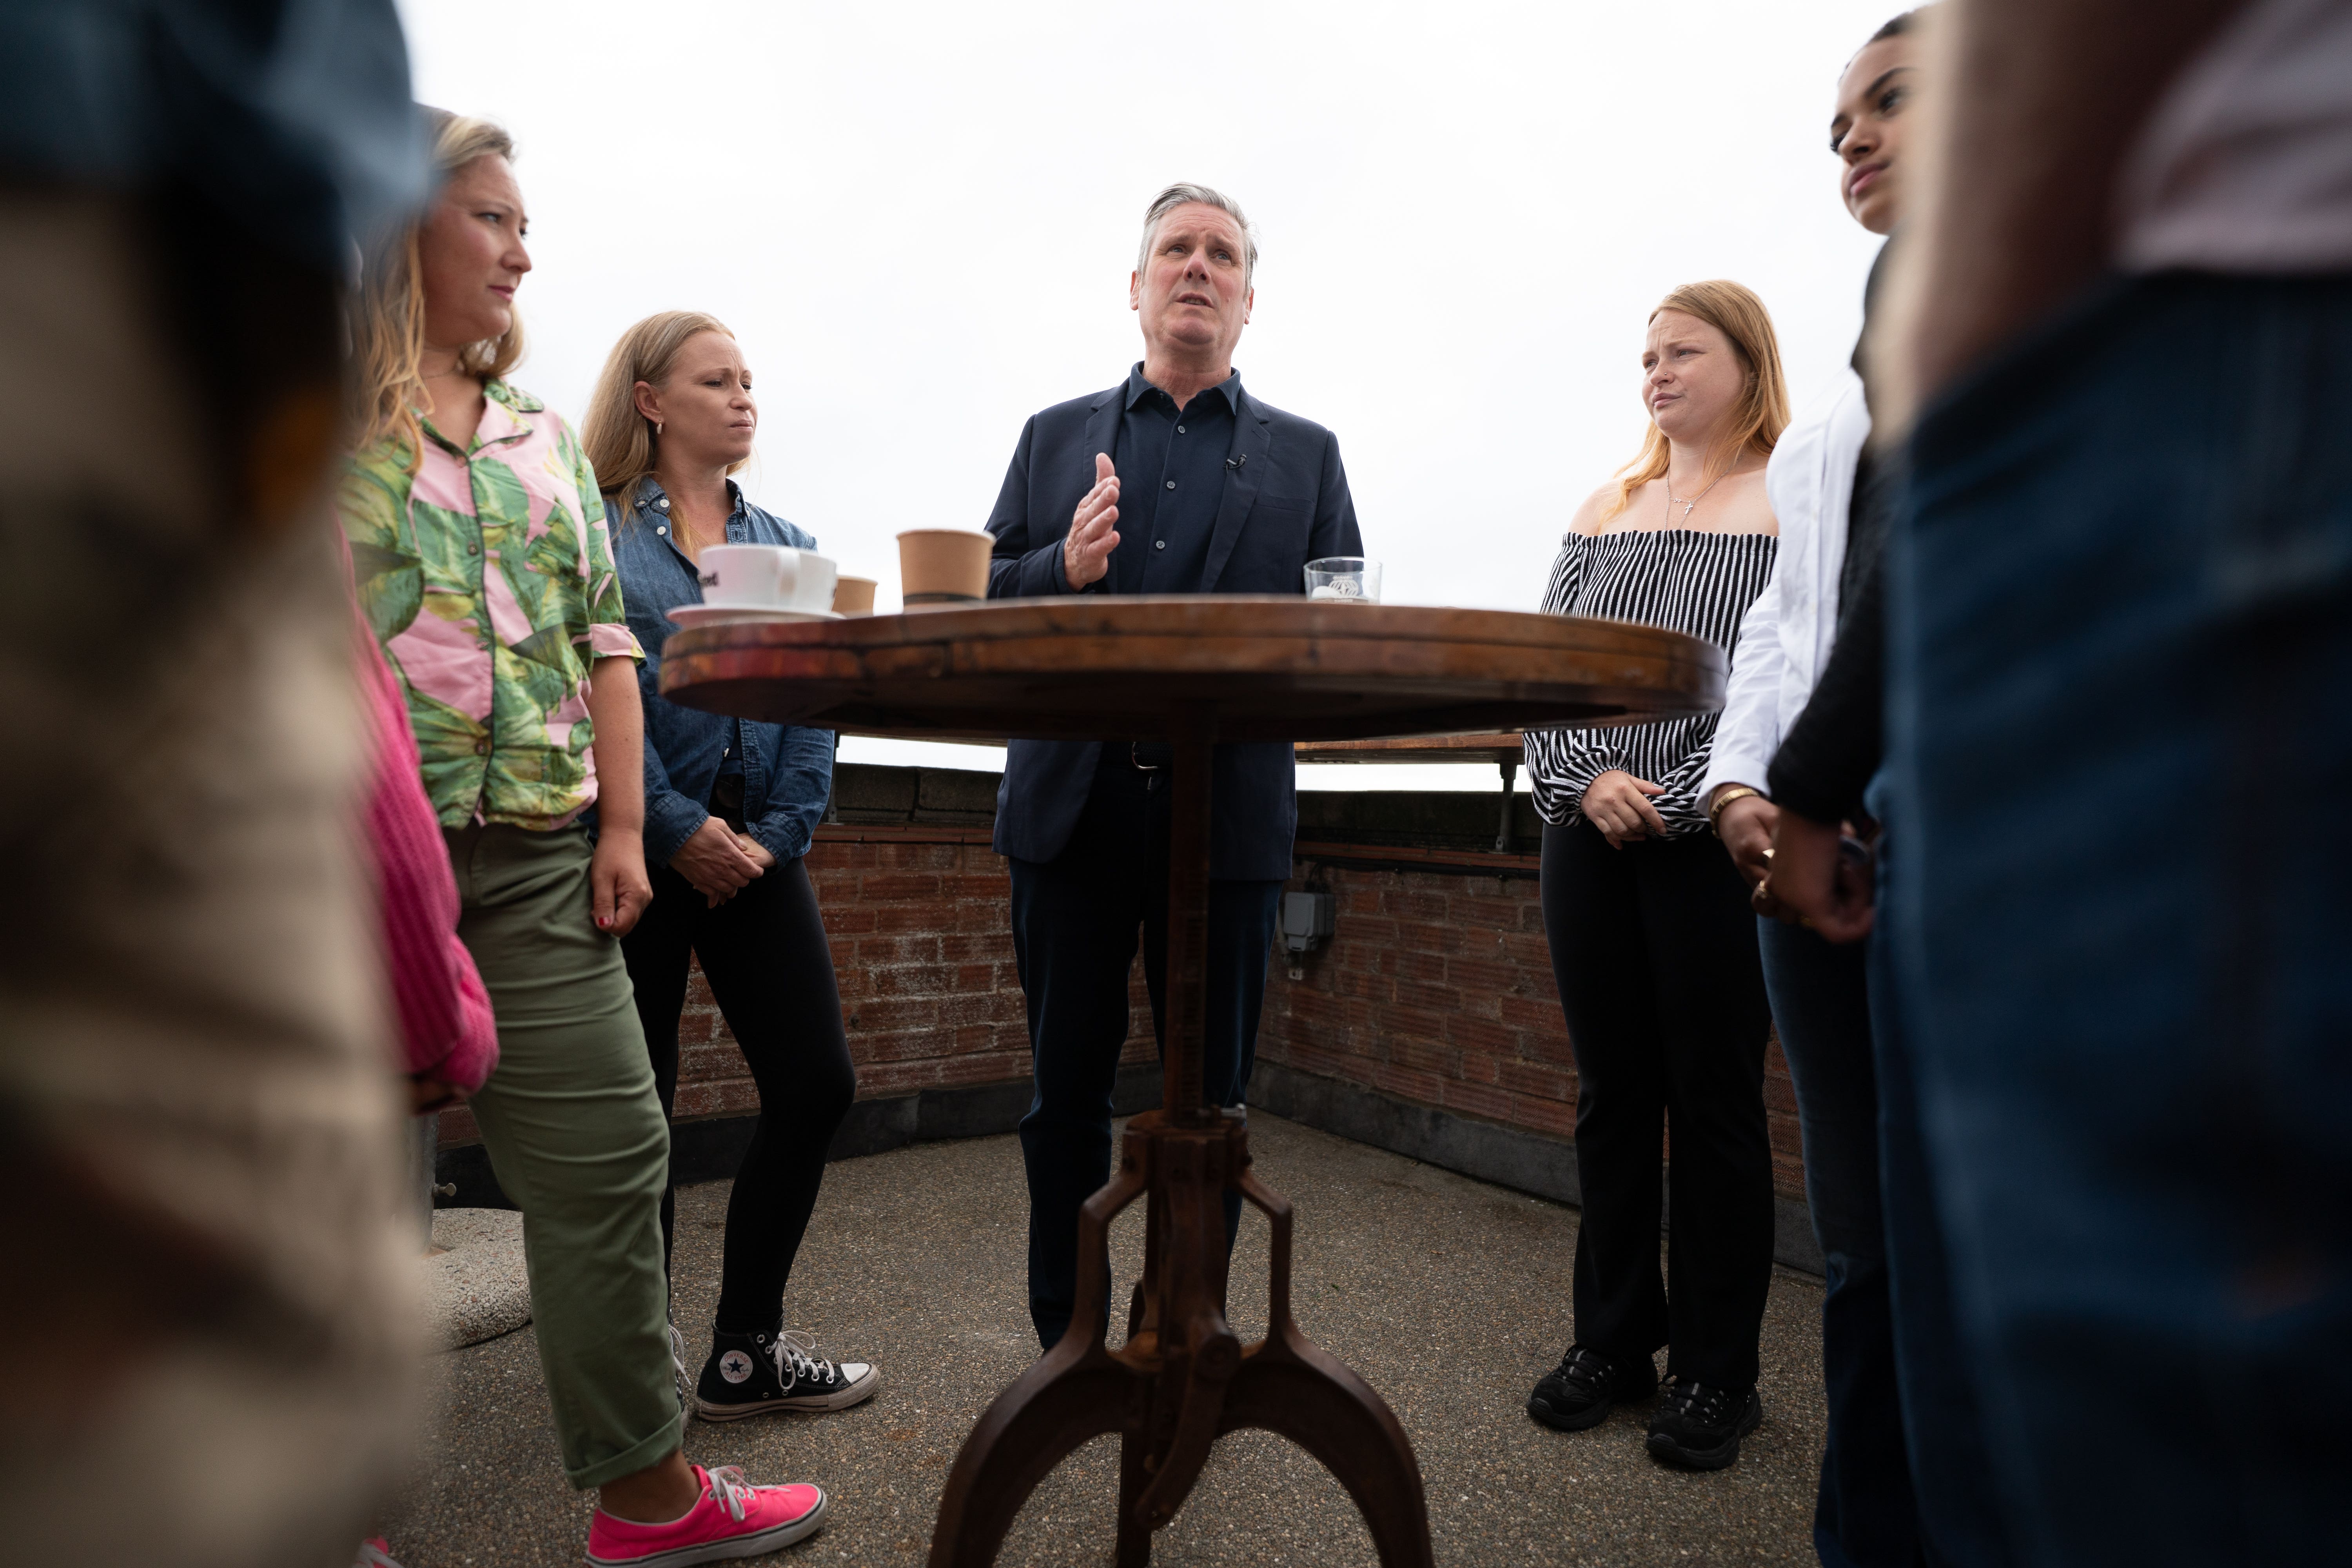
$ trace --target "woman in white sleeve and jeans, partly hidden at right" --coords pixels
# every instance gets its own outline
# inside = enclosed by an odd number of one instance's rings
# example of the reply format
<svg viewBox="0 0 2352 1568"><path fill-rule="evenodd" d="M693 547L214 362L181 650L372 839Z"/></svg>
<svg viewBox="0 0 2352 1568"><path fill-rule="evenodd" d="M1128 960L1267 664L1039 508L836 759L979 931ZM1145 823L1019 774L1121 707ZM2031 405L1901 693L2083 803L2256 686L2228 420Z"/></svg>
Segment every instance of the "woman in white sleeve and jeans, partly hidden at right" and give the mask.
<svg viewBox="0 0 2352 1568"><path fill-rule="evenodd" d="M1903 212L1910 174L1905 132L1919 85L1917 21L1915 12L1905 12L1870 35L1846 61L1830 113L1839 195L1856 223L1875 235L1891 233ZM1806 790L1818 771L1811 752L1820 743L1809 748L1809 736L1797 733L1804 729L1799 715L1835 658L1844 607L1863 599L1858 590L1877 562L1898 491L1898 465L1884 454L1872 456L1867 442L1863 381L1846 371L1820 407L1788 428L1764 475L1780 522L1780 559L1740 623L1738 661L1700 785L1715 832L1750 886L1771 870L1780 790L1802 809L1825 795ZM1875 651L1877 639L1867 642ZM1783 748L1792 733L1795 743ZM1865 820L1858 790L1846 799L1832 790L1825 806L1811 809L1832 820ZM1759 910L1769 907L1762 898ZM1828 1274L1820 1366L1830 1432L1820 1455L1813 1547L1830 1568L1907 1568L1922 1552L1922 1507L1896 1363L1898 1326L1879 1199L1879 1072L1863 950L1828 943L1818 931L1771 912L1757 914L1757 940L1797 1091L1804 1197ZM1947 1420L1938 1425L1950 1427ZM1929 1436L1945 1443L1950 1434ZM1940 1502L1955 1467L1933 1448L1929 1453L1938 1462L1926 1467L1922 1490L1938 1493Z"/></svg>

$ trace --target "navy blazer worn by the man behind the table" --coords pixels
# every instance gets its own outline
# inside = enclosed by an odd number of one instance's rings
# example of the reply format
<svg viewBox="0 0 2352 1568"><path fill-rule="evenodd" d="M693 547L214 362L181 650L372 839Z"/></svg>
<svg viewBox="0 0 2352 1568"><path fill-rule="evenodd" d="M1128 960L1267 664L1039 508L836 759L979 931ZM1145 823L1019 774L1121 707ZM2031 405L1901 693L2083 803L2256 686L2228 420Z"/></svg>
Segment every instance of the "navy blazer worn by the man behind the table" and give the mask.
<svg viewBox="0 0 2352 1568"><path fill-rule="evenodd" d="M988 517L997 536L990 599L1073 592L1061 569L1070 515L1094 489L1094 454L1115 451L1127 386L1058 402L1030 416ZM1232 458L1240 458L1235 465ZM1240 395L1225 489L1202 581L1178 592L1305 592L1305 564L1362 555L1338 440L1315 421ZM1101 592L1108 578L1087 592ZM1014 741L997 785L1000 856L1051 860L1068 846L1101 741ZM1287 741L1218 745L1211 778L1209 875L1272 882L1291 875L1298 771Z"/></svg>

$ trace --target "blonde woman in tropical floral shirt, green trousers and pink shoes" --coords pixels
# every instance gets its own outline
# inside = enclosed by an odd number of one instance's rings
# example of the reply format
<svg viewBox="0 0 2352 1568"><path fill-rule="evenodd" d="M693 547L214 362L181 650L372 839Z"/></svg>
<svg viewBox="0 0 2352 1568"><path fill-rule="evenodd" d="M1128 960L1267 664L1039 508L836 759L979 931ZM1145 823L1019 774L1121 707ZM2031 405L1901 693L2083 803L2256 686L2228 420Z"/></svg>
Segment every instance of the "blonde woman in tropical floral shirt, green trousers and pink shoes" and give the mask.
<svg viewBox="0 0 2352 1568"><path fill-rule="evenodd" d="M503 378L532 270L513 143L485 120L430 122L442 188L362 268L365 440L343 529L499 1016L499 1070L473 1107L522 1208L564 1474L600 1490L588 1561L750 1556L809 1535L826 1495L680 1450L670 1140L619 945L652 896L642 649L579 440Z"/></svg>

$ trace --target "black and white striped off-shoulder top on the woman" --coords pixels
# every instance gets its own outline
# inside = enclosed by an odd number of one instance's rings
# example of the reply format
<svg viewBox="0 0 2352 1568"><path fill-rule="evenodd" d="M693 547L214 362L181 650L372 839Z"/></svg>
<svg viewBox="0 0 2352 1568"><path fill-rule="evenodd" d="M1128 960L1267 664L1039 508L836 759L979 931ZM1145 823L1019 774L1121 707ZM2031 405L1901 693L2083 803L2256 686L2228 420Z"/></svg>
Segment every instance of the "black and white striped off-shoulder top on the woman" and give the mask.
<svg viewBox="0 0 2352 1568"><path fill-rule="evenodd" d="M1625 529L1569 534L1559 541L1548 616L1639 621L1705 637L1731 654L1740 616L1771 578L1771 534L1700 534L1698 529ZM1526 780L1545 823L1573 823L1585 788L1609 769L1665 785L1651 806L1668 835L1708 825L1698 783L1708 773L1717 715L1621 729L1552 729L1526 736Z"/></svg>

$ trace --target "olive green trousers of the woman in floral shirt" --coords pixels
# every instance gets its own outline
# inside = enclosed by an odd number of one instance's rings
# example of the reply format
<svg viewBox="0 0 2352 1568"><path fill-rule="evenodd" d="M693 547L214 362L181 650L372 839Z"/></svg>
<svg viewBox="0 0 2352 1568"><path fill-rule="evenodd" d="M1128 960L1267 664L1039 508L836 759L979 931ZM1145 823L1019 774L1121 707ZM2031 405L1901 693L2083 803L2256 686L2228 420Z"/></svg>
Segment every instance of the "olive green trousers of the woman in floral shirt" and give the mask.
<svg viewBox="0 0 2352 1568"><path fill-rule="evenodd" d="M670 1126L621 943L588 910L588 830L475 825L447 839L456 931L499 1016L499 1070L473 1114L522 1208L564 1474L602 1486L680 1441L661 1267Z"/></svg>

